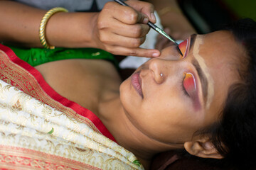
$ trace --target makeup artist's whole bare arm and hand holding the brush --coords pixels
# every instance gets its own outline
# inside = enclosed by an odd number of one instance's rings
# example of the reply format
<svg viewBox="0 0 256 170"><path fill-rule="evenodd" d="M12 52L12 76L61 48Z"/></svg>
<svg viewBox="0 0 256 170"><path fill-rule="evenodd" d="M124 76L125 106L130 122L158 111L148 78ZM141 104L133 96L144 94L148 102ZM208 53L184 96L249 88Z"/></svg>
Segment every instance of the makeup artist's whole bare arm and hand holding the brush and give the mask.
<svg viewBox="0 0 256 170"><path fill-rule="evenodd" d="M127 6L110 2L101 13L55 13L46 26L46 40L56 47L96 47L115 55L152 57L158 50L140 49L149 30L144 18L154 22L153 6L127 1ZM15 1L0 0L0 41L25 47L42 47L38 29L45 10ZM144 13L144 14L142 14Z"/></svg>

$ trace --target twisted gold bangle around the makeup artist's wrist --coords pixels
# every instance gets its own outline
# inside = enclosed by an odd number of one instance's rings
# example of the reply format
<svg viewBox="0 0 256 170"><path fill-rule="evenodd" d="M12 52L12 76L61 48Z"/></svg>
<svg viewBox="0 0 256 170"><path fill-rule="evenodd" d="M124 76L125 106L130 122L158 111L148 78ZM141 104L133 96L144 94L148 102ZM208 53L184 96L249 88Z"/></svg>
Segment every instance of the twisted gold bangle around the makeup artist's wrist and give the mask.
<svg viewBox="0 0 256 170"><path fill-rule="evenodd" d="M67 9L61 8L61 7L56 7L50 9L42 18L40 27L39 27L39 38L40 42L43 45L43 47L48 48L48 49L54 49L55 46L49 45L46 41L46 24L51 16L53 16L54 13L58 12L68 12Z"/></svg>

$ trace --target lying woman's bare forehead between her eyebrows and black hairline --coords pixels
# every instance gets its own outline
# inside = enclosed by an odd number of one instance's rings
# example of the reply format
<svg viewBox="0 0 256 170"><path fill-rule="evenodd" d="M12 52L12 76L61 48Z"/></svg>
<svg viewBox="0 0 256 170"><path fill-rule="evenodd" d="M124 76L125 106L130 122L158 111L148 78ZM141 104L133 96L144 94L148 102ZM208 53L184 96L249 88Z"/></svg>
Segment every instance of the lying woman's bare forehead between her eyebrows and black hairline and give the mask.
<svg viewBox="0 0 256 170"><path fill-rule="evenodd" d="M209 110L219 113L228 96L228 89L238 81L238 58L242 55L242 47L228 31L199 35L198 38L203 39L199 53L213 77L214 95Z"/></svg>

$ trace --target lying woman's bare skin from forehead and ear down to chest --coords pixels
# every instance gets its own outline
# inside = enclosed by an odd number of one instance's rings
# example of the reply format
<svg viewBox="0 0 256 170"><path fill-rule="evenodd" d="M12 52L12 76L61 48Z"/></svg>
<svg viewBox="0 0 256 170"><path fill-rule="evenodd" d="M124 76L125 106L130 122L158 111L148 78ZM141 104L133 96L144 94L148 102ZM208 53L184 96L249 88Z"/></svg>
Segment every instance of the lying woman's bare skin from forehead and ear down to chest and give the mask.
<svg viewBox="0 0 256 170"><path fill-rule="evenodd" d="M193 52L201 40L198 53ZM236 56L242 54L242 47L227 31L197 35L194 45L183 59L175 46L167 47L160 57L135 71L140 73L143 98L132 86L132 77L122 83L106 61L62 60L36 69L60 95L95 113L119 145L133 152L145 169L149 169L154 154L171 149L185 148L199 157L220 158L207 137L193 134L219 120L228 88L238 81L234 63ZM209 106L192 63L199 55L198 64L203 73L208 73L206 91L210 94L211 86L214 89ZM183 92L184 72L196 79L200 107Z"/></svg>

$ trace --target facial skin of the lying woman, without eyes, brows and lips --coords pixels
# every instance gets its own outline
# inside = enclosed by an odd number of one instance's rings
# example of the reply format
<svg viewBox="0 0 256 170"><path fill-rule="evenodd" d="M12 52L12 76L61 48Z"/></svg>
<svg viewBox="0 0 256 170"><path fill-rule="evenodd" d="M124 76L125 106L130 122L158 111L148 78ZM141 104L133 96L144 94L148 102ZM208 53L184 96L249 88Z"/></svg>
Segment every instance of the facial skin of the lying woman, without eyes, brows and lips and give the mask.
<svg viewBox="0 0 256 170"><path fill-rule="evenodd" d="M225 38L220 38L221 35ZM201 38L205 42L199 48L199 54L203 60L198 60L198 63L203 65L205 62L206 67L202 67L203 72L209 73L208 84L215 89L213 101L209 107L206 107L207 102L203 102L201 82L198 81L198 74L196 74L196 69L192 64L192 60L198 57L193 55L193 49L185 59L179 60L176 57L174 47L166 48L162 51L161 57L150 60L140 67L137 72L140 72L142 79L144 98L136 95L137 91L134 91L130 85L130 79L124 81L120 88L121 100L127 118L138 130L157 142L174 146L183 145L184 141L191 140L196 130L217 121L228 88L237 80L235 70L230 64L235 53L230 52L230 55L227 54L230 57L223 58L221 54L225 48L215 45L216 41L219 40L218 38L221 39L220 44L223 45L223 42L226 43L228 41L226 39L230 39L232 36L220 32L205 36L198 35L198 39ZM215 38L217 40L213 40ZM232 38L232 41L229 40L228 42L233 41ZM233 49L234 46L230 45L230 48ZM213 47L221 50L218 50L219 53L208 52ZM184 72L193 73L197 79L196 84L198 84L198 96L201 105L197 111L191 98L185 96L181 89ZM161 73L164 74L163 77L160 76ZM213 81L209 77L212 77ZM212 90L207 89L209 94Z"/></svg>

